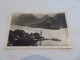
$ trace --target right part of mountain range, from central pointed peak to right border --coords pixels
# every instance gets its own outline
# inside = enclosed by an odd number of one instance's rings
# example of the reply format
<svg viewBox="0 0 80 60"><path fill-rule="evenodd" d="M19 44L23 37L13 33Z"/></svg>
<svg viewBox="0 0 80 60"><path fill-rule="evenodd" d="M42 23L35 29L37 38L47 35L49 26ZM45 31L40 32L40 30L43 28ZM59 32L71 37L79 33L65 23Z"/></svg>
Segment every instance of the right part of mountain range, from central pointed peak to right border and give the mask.
<svg viewBox="0 0 80 60"><path fill-rule="evenodd" d="M45 28L45 29L60 29L67 28L66 19L64 13L56 14L54 17L49 17L45 15L41 18L42 22L30 25L35 28Z"/></svg>

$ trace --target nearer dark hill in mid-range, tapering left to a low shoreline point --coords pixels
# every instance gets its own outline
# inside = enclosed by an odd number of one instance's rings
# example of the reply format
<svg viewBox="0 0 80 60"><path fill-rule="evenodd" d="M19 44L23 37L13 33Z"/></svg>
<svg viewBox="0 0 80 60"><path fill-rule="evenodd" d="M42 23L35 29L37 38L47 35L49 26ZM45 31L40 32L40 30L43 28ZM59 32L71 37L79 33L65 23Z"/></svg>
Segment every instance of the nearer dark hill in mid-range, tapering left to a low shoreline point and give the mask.
<svg viewBox="0 0 80 60"><path fill-rule="evenodd" d="M52 17L47 17L44 18L42 22L30 26L35 28L59 29L56 24L57 22Z"/></svg>

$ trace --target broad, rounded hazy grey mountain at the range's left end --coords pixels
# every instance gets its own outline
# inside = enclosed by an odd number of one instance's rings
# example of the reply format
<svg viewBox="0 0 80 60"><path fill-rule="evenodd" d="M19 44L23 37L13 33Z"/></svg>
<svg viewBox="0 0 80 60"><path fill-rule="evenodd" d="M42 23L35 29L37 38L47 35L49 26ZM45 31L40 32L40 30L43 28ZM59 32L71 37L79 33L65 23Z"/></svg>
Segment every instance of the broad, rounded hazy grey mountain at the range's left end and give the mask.
<svg viewBox="0 0 80 60"><path fill-rule="evenodd" d="M39 18L35 17L32 14L21 14L17 20L15 20L14 24L16 25L31 25L36 23L39 20Z"/></svg>

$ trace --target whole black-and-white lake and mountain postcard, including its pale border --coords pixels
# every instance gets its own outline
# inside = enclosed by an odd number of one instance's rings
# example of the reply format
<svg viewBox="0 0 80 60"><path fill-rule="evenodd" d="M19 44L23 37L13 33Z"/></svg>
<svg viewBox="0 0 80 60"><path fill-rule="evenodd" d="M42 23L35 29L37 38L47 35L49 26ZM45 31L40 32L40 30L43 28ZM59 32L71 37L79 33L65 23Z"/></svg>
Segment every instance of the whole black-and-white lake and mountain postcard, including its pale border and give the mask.
<svg viewBox="0 0 80 60"><path fill-rule="evenodd" d="M12 13L6 48L72 48L65 12Z"/></svg>

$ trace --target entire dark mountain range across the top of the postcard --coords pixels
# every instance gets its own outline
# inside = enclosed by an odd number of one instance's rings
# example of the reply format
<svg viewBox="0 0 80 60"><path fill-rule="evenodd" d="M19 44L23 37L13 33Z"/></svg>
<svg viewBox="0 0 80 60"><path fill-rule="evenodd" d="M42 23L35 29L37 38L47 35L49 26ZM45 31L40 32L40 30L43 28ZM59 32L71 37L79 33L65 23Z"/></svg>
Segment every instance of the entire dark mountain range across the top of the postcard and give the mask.
<svg viewBox="0 0 80 60"><path fill-rule="evenodd" d="M32 14L21 14L19 17L16 17L14 19L12 24L20 26L30 26L34 28L52 29L52 30L67 28L64 13L58 13L53 17L45 15L42 18L37 18Z"/></svg>

